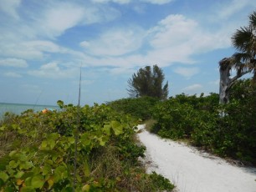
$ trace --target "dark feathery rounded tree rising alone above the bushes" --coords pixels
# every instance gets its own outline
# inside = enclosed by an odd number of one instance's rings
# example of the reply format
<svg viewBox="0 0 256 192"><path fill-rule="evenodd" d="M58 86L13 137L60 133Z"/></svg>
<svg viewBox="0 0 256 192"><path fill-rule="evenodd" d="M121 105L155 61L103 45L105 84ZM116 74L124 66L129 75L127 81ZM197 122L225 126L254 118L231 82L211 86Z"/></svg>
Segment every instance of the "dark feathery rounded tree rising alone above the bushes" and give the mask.
<svg viewBox="0 0 256 192"><path fill-rule="evenodd" d="M158 99L166 99L168 96L168 82L162 87L162 83L165 79L161 68L157 65L153 66L153 71L151 66L146 66L145 68L140 68L137 73L129 78L127 89L131 98L138 98L143 96L149 96Z"/></svg>

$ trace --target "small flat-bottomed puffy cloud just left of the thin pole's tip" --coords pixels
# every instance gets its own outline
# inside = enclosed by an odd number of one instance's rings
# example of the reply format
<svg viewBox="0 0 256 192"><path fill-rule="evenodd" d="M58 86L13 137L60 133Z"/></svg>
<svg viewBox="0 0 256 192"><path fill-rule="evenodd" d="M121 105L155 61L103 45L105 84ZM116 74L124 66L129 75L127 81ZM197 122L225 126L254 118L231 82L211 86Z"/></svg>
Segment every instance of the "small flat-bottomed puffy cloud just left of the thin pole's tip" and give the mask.
<svg viewBox="0 0 256 192"><path fill-rule="evenodd" d="M72 78L76 72L77 68L60 68L59 63L52 62L42 65L38 70L28 71L28 74L40 78Z"/></svg>

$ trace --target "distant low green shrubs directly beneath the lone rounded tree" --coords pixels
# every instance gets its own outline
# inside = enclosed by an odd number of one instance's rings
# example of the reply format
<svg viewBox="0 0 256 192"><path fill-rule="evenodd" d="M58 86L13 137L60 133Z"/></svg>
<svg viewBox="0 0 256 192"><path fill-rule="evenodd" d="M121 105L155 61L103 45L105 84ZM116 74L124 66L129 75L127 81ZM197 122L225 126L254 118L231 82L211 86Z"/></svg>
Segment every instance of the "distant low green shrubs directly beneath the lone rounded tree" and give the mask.
<svg viewBox="0 0 256 192"><path fill-rule="evenodd" d="M108 103L111 108L121 114L131 114L138 119L150 119L152 109L159 99L151 97L141 97L136 99L119 99Z"/></svg>

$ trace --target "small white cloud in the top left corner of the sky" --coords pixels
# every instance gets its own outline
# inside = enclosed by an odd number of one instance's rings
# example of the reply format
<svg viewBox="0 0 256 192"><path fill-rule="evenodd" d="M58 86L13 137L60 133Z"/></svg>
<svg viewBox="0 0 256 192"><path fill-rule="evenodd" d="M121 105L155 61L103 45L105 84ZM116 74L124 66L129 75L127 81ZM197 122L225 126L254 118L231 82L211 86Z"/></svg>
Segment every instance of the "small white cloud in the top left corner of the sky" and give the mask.
<svg viewBox="0 0 256 192"><path fill-rule="evenodd" d="M17 8L21 0L0 0L0 10L7 13L9 16L18 19Z"/></svg>

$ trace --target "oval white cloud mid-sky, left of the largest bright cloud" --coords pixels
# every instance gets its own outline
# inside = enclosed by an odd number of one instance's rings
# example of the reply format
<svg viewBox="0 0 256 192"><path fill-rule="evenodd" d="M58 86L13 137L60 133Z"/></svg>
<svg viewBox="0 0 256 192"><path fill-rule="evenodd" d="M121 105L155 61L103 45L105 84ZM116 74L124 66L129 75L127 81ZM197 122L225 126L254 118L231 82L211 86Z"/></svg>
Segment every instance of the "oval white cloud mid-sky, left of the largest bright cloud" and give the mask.
<svg viewBox="0 0 256 192"><path fill-rule="evenodd" d="M140 48L143 35L143 30L138 27L112 28L98 39L81 42L80 46L86 53L96 56L118 56Z"/></svg>

